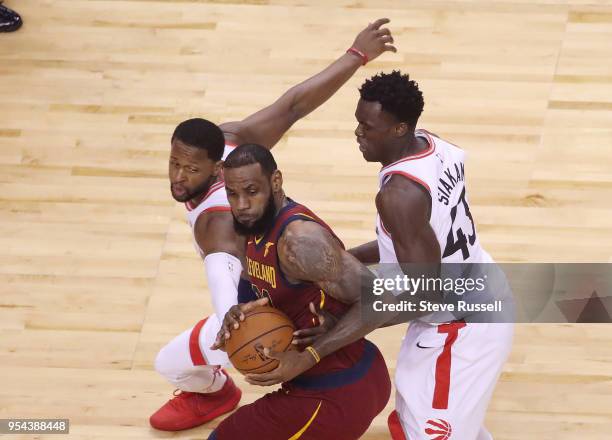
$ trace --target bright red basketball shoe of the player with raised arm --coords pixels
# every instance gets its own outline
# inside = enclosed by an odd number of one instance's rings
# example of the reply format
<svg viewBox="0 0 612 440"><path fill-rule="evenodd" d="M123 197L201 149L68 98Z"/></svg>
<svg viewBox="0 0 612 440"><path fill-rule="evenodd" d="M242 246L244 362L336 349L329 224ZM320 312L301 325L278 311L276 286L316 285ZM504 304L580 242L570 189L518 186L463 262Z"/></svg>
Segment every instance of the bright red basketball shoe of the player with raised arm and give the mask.
<svg viewBox="0 0 612 440"><path fill-rule="evenodd" d="M182 431L202 425L230 412L240 402L242 391L229 375L223 388L214 393L180 391L149 419L151 426L161 431ZM176 391L175 391L176 393Z"/></svg>

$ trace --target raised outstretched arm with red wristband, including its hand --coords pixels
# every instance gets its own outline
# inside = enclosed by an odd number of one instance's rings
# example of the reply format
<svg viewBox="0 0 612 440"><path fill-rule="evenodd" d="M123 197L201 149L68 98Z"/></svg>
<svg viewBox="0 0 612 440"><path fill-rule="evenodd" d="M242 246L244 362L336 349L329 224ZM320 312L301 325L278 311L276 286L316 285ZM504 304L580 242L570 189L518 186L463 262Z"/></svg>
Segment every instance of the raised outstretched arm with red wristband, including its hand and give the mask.
<svg viewBox="0 0 612 440"><path fill-rule="evenodd" d="M389 20L370 23L351 47L373 60L386 51L396 52L391 31L381 28ZM242 121L222 124L226 139L236 144L257 143L272 148L299 119L327 101L363 64L359 55L345 53L322 72L293 86L276 102Z"/></svg>

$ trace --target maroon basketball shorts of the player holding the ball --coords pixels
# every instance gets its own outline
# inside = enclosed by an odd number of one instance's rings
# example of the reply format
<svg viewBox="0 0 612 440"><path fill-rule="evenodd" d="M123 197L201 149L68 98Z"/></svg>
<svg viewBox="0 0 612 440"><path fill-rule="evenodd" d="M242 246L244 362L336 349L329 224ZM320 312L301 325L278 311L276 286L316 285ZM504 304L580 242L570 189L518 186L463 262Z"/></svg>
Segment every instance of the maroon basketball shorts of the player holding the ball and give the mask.
<svg viewBox="0 0 612 440"><path fill-rule="evenodd" d="M208 440L352 440L387 405L391 381L378 348L365 342L351 368L298 377L223 420Z"/></svg>

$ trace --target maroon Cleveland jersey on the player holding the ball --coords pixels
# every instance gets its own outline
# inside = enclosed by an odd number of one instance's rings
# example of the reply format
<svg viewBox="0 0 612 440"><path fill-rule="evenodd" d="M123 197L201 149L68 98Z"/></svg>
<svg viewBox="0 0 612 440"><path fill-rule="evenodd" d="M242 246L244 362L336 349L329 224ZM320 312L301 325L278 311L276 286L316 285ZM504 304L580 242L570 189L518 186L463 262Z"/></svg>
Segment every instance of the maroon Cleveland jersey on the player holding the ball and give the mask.
<svg viewBox="0 0 612 440"><path fill-rule="evenodd" d="M288 199L276 216L274 225L262 236L250 236L247 240L247 273L253 290L260 298L268 298L270 304L283 311L297 329L318 325L309 309L312 302L317 310L325 309L336 317L342 316L349 305L327 295L311 282L291 283L283 274L277 253L278 240L289 223L295 220L314 221L327 229L340 245L344 245L323 220L303 205ZM359 361L363 353L364 339L360 339L321 359L304 375L320 375L343 370Z"/></svg>

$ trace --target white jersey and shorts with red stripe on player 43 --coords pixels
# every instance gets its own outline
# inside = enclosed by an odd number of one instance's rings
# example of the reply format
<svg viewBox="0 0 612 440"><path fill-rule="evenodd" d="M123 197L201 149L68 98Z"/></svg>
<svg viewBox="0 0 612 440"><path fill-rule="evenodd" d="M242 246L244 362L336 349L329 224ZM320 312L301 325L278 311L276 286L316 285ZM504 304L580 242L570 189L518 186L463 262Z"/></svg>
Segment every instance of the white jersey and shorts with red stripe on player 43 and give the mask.
<svg viewBox="0 0 612 440"><path fill-rule="evenodd" d="M384 167L379 174L380 188L399 174L431 195L429 223L438 239L442 262L492 262L480 246L470 213L465 190L465 153L426 131L419 130L416 135L427 140L429 148ZM395 266L398 260L392 237L380 216L377 235L380 262L395 263L383 266ZM497 274L496 265L478 266L491 266L487 269L490 272L485 273ZM394 273L397 272L395 269ZM486 292L478 293L483 295L482 301L507 298L509 290L503 274L488 280L486 285ZM504 310L506 306L512 313L511 301L505 303ZM486 318L478 323L469 319L467 324L456 322L462 318L449 311L436 311L412 321L408 327L395 373L396 409L406 438L492 439L483 421L510 352L512 324L489 324L494 321Z"/></svg>

